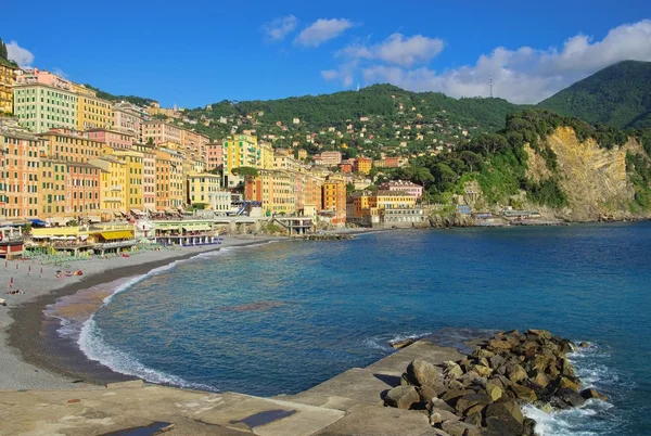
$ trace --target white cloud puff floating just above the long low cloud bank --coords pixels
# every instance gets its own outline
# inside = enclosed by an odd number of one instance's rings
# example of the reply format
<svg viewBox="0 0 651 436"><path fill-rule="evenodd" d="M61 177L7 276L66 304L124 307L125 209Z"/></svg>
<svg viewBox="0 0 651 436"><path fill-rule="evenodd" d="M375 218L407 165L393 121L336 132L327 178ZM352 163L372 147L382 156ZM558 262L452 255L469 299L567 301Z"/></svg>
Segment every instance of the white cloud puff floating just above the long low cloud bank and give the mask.
<svg viewBox="0 0 651 436"><path fill-rule="evenodd" d="M427 38L422 35L406 38L401 34L393 34L383 42L371 47L367 44L348 46L340 50L336 56L379 60L409 67L430 62L443 51L443 47L444 42L438 38Z"/></svg>

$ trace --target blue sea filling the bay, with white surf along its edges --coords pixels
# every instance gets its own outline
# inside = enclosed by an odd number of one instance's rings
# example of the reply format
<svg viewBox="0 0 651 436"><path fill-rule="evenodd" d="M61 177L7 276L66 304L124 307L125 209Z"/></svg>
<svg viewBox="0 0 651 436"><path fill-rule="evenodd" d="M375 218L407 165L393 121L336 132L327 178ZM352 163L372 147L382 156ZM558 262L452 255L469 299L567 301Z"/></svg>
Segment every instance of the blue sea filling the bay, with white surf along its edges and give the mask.
<svg viewBox="0 0 651 436"><path fill-rule="evenodd" d="M386 356L397 336L537 328L590 342L573 360L585 384L611 397L556 415L529 410L540 433L651 429L648 222L273 243L205 255L119 290L79 344L151 381L292 394Z"/></svg>

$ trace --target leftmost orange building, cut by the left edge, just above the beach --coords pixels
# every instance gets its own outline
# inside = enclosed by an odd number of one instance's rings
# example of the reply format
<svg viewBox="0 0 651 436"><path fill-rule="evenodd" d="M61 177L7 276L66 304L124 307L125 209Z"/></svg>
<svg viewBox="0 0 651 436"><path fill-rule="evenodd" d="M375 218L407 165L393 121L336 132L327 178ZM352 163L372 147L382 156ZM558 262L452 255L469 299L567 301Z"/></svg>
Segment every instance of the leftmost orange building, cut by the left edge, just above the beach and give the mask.
<svg viewBox="0 0 651 436"><path fill-rule="evenodd" d="M0 130L0 216L38 217L38 138L27 130Z"/></svg>

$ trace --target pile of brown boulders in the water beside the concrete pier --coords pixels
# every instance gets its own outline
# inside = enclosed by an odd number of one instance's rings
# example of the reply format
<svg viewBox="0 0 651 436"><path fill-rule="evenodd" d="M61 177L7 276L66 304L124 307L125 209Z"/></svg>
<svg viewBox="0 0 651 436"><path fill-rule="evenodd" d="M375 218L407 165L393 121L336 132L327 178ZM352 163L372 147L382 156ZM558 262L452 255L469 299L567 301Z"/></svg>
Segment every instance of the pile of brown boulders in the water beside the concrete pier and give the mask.
<svg viewBox="0 0 651 436"><path fill-rule="evenodd" d="M384 403L426 413L439 436L534 435L522 406L552 411L605 399L580 389L566 356L575 347L545 330L498 333L456 362L413 360Z"/></svg>

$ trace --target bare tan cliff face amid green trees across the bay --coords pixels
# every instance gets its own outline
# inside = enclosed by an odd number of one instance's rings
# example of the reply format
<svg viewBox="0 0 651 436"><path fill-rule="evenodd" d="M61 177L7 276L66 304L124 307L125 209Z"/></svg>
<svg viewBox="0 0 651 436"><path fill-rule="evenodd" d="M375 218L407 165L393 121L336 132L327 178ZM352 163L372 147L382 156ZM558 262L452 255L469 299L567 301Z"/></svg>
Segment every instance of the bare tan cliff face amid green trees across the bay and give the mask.
<svg viewBox="0 0 651 436"><path fill-rule="evenodd" d="M556 175L567 196L567 207L560 210L544 208L541 213L572 221L593 221L603 216L613 219L642 218L634 217L629 211L635 189L626 174L626 152L643 153L636 140L629 139L624 146L607 150L592 139L580 142L572 128L561 127L541 145L554 152L558 168L551 170L535 150L525 146L528 154L527 178L539 182Z"/></svg>

